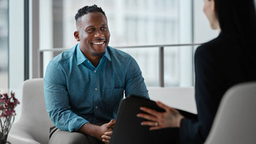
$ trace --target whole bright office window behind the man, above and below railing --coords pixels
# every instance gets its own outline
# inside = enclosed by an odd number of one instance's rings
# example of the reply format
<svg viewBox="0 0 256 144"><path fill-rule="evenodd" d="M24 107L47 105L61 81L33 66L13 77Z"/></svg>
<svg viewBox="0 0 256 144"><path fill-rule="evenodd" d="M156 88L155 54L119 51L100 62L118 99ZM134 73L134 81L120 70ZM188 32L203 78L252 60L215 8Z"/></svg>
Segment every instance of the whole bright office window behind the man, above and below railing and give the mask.
<svg viewBox="0 0 256 144"><path fill-rule="evenodd" d="M76 12L85 5L97 4L108 18L109 45L122 47L121 50L138 61L147 86L159 86L159 47L124 49L125 46L165 45L164 85L193 86L192 56L197 46L192 45L206 42L215 34L201 29L208 26L202 16L203 1L45 0L39 3L40 50L72 48L77 43L73 36ZM191 46L170 46L176 44ZM58 53L44 54L44 69Z"/></svg>

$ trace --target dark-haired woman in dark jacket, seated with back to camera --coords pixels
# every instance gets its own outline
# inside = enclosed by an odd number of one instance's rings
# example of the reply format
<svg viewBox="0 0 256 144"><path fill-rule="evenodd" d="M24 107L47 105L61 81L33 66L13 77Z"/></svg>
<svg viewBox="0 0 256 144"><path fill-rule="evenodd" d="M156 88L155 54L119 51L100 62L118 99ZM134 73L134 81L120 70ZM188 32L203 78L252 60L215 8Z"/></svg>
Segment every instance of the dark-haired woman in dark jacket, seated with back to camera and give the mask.
<svg viewBox="0 0 256 144"><path fill-rule="evenodd" d="M179 127L180 143L204 143L219 102L228 88L256 80L256 15L254 0L204 0L203 12L219 36L195 52L197 118L157 102L165 113L141 107L150 129Z"/></svg>

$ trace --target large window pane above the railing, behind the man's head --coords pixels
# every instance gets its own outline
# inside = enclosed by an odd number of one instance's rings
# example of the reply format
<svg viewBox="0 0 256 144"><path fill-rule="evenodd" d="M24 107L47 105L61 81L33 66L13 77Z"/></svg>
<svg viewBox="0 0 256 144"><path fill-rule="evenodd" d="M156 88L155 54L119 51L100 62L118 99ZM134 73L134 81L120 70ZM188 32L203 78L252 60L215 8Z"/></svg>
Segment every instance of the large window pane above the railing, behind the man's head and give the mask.
<svg viewBox="0 0 256 144"><path fill-rule="evenodd" d="M49 1L49 0L47 0ZM108 17L112 46L177 43L178 0L52 0L53 48L70 48L75 13L83 6L97 4ZM157 36L157 37L156 37Z"/></svg>

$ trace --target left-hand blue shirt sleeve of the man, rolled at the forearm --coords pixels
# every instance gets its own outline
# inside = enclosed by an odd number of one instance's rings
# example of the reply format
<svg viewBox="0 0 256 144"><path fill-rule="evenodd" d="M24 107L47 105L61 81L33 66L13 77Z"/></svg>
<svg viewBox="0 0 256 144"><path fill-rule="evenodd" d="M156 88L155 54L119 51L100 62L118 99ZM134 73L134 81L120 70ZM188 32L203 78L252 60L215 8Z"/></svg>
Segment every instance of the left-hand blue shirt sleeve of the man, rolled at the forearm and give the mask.
<svg viewBox="0 0 256 144"><path fill-rule="evenodd" d="M53 124L61 130L78 131L86 119L72 112L64 69L50 61L44 77L45 104Z"/></svg>

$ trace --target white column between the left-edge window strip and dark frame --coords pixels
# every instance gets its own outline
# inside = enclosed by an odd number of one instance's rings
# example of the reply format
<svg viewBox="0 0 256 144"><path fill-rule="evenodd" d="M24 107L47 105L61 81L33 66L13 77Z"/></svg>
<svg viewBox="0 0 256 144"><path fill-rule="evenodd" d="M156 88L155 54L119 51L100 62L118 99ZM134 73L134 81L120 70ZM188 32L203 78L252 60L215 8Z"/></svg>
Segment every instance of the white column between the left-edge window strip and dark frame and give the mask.
<svg viewBox="0 0 256 144"><path fill-rule="evenodd" d="M24 81L24 1L9 1L9 88L21 102ZM16 108L15 121L20 117L20 105Z"/></svg>

